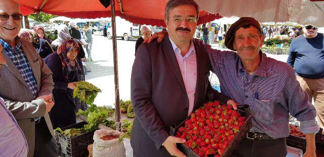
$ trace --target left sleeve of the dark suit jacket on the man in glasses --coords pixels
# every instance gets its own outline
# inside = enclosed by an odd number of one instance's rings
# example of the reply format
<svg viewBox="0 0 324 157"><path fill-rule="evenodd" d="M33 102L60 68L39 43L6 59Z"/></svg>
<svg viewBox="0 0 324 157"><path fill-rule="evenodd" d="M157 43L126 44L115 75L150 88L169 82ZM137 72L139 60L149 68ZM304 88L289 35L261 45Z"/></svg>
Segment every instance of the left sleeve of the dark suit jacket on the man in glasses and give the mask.
<svg viewBox="0 0 324 157"><path fill-rule="evenodd" d="M150 53L145 44L137 50L131 76L131 99L134 112L142 128L154 141L156 149L169 137L163 122L157 115L152 95L152 70Z"/></svg>

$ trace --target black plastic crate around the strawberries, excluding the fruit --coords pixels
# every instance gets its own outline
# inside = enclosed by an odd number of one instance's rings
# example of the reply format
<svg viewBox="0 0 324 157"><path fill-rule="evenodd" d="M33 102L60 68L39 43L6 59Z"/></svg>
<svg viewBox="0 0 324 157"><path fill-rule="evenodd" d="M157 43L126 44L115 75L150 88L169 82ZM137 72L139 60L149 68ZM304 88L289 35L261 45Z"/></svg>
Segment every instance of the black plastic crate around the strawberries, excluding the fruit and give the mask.
<svg viewBox="0 0 324 157"><path fill-rule="evenodd" d="M226 156L226 157L231 156L231 153L236 148L238 143L246 137L248 131L252 128L252 115L251 115L250 107L247 104L237 106L237 112L247 118L246 122L244 125L240 126L240 128L239 128L240 131L235 135L234 140L228 144L228 146L224 150L224 154L222 156ZM190 116L187 119L189 119L189 118L190 118ZM184 126L184 123L186 120L181 122L179 125L174 124L174 125L170 126L170 134L175 136L178 131L178 128L181 126ZM193 150L191 150L184 143L177 143L177 147L180 151L182 151L188 157L199 157L199 155L197 155ZM208 156L214 156L214 154L210 154Z"/></svg>

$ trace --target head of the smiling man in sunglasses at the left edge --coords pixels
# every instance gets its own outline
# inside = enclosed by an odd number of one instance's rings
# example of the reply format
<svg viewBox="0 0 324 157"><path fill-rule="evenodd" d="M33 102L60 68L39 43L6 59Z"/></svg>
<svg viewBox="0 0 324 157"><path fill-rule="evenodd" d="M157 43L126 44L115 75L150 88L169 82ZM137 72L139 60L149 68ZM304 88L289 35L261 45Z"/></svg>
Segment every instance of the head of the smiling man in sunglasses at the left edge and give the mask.
<svg viewBox="0 0 324 157"><path fill-rule="evenodd" d="M20 8L17 1L1 0L0 15L20 14ZM12 16L8 20L0 18L0 38L11 45L15 45L14 39L18 35L21 28L21 20L14 20Z"/></svg>

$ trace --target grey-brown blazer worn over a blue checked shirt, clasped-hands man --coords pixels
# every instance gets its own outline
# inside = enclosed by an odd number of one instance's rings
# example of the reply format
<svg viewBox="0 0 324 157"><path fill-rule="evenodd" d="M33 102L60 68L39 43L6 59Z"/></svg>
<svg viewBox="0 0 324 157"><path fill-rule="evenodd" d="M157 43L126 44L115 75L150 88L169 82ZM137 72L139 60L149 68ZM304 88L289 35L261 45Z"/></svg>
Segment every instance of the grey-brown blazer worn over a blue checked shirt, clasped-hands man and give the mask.
<svg viewBox="0 0 324 157"><path fill-rule="evenodd" d="M22 41L22 49L37 82L37 96L48 95L53 90L52 72L36 53L35 48L27 40ZM20 75L14 63L4 53L7 65L0 71L0 96L4 98L7 108L15 116L21 130L24 132L28 143L28 156L33 156L35 145L35 117L45 118L46 124L52 136L53 127L49 115L46 113L46 105L43 100L34 100L33 94Z"/></svg>

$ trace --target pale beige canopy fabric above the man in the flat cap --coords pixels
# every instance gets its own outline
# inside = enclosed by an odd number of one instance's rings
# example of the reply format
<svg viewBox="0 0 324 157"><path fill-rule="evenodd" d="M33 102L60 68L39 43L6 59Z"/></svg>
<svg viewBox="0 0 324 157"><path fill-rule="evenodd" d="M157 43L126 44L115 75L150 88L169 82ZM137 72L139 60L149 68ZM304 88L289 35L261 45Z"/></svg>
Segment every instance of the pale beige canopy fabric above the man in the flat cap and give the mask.
<svg viewBox="0 0 324 157"><path fill-rule="evenodd" d="M313 0L195 0L201 10L262 22L295 22L324 27L324 2ZM315 2L316 1L316 2Z"/></svg>

